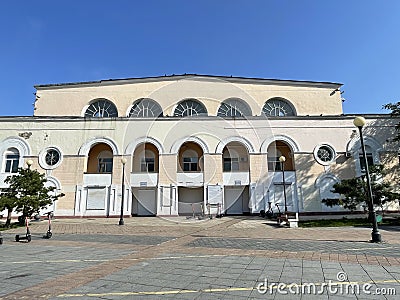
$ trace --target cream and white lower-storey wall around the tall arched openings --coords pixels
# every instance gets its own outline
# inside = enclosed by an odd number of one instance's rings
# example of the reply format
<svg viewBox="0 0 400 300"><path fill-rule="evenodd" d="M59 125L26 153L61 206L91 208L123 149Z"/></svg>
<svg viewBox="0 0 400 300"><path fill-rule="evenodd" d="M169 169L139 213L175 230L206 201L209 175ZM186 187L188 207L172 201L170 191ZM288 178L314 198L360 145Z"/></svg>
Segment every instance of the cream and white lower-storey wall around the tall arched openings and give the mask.
<svg viewBox="0 0 400 300"><path fill-rule="evenodd" d="M374 140L379 144L379 159L391 172L387 175L390 180L397 180L399 176L399 162L397 157L397 146L387 142L388 137L393 131L382 131L381 126L394 124L393 120L386 119L386 123L381 122L380 118L368 119L370 127L365 128L366 140ZM316 120L315 118L297 118L286 120L268 120L250 118L246 121L235 120L215 120L206 118L170 120L160 119L151 120L85 120L85 119L47 119L47 118L2 118L2 131L0 131L0 145L7 143L10 136L16 136L17 140L29 145L30 153L25 159L33 159L32 168L46 173L47 176L56 178L61 185L60 191L66 196L56 203L57 213L60 215L85 215L85 212L78 211L77 203L84 201L85 189L92 181L85 182L85 171L90 149L99 143L107 144L114 153L114 168L110 175L109 182L109 205L114 207L110 210L111 214L119 214L118 208L121 197L121 174L122 174L122 155L128 158L125 165L125 184L134 186L130 182L129 174L132 172L131 162L135 159L133 153L140 147L143 141L143 131L127 130L131 123L135 128L154 128L149 130L149 140L159 142L161 151L159 153L159 173L158 186L177 186L178 172L178 153L180 146L186 141L198 143L204 152L204 169L202 186L224 185L224 172L222 150L225 144L231 141L240 143L244 148L249 147L250 153L248 172L248 183L246 173L232 173L232 182L235 178L240 179L241 184L250 189L250 206L252 212L260 210L265 202L266 193L273 190L273 184L282 182L279 179L279 172L271 172L267 168L268 145L274 140L285 141L292 147L295 172L290 189L293 191L293 199L297 201L300 211L321 212L324 207L321 204L321 187L318 185L323 176L333 176L338 180L342 178L354 177L357 174L356 152L351 151L350 144L354 144L354 126L352 117L337 117ZM18 124L18 126L16 126ZM376 125L378 124L378 125ZM29 138L18 137L21 132L31 132ZM379 134L371 136L371 133ZM382 133L385 133L383 135ZM207 133L207 134L206 134ZM334 134L333 134L334 133ZM63 137L63 138L61 138ZM248 144L247 146L245 144ZM318 145L329 144L336 151L336 159L332 164L321 165L315 159L315 149ZM129 150L130 145L138 145ZM356 145L356 144L354 144ZM54 169L46 169L40 163L40 157L44 154L44 149L57 147L62 153L62 161ZM154 146L155 147L155 146ZM4 148L4 147L3 147ZM246 148L247 149L247 148ZM130 152L129 152L130 151ZM354 150L355 151L355 150ZM242 153L243 155L243 153ZM3 172L4 170L2 170ZM288 172L290 173L290 172ZM274 175L275 174L275 175ZM0 173L1 178L8 174ZM235 177L236 176L236 177ZM245 177L243 177L245 176ZM289 175L287 175L289 176ZM291 175L290 175L291 176ZM93 179L91 179L93 180ZM275 182L275 183L274 183ZM254 193L252 192L254 191ZM182 196L182 195L181 195ZM127 196L128 204L126 211L129 213L131 208L130 198ZM206 199L205 199L206 201ZM253 202L252 202L253 201ZM115 208L116 207L116 208ZM397 209L396 207L391 207Z"/></svg>

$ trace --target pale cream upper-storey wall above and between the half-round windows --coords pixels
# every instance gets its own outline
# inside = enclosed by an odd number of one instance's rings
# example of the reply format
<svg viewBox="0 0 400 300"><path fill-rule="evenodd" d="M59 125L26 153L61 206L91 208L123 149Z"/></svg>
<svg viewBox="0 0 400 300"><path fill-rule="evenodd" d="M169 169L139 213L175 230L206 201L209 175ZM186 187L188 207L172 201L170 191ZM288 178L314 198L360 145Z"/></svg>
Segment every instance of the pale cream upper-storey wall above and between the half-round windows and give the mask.
<svg viewBox="0 0 400 300"><path fill-rule="evenodd" d="M34 115L83 116L92 100L105 98L117 106L118 116L124 117L135 100L151 98L161 105L164 115L172 116L179 101L196 98L206 106L208 115L215 116L220 103L232 97L243 99L253 116L260 116L265 101L274 97L288 99L297 115L340 115L343 112L340 93L332 94L340 86L283 80L252 83L235 78L202 76L36 86Z"/></svg>

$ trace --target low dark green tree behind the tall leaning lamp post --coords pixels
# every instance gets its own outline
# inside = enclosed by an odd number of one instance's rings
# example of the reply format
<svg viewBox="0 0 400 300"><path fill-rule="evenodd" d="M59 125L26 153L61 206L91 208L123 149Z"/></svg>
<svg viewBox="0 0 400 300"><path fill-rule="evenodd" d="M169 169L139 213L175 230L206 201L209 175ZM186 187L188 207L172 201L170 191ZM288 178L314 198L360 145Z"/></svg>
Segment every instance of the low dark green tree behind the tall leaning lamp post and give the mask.
<svg viewBox="0 0 400 300"><path fill-rule="evenodd" d="M382 165L369 166L368 168L375 206L383 207L385 203L400 199L400 194L392 191L390 182L382 179L385 174ZM333 185L332 192L340 194L341 197L322 200L322 203L330 207L341 205L345 209L354 211L360 205L367 206L367 201L369 201L365 176L343 179Z"/></svg>

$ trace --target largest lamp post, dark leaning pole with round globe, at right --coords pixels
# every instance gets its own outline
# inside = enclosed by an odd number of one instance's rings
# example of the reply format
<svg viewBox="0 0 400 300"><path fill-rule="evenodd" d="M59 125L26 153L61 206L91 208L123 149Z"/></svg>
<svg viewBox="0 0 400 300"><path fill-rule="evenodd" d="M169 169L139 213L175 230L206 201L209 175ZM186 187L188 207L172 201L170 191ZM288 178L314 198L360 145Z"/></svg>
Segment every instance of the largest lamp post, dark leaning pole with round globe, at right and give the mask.
<svg viewBox="0 0 400 300"><path fill-rule="evenodd" d="M362 134L362 128L364 127L366 121L363 117L356 117L354 118L353 124L358 128L360 133L360 141L361 141L361 150L363 153L363 160L365 164L365 177L367 178L367 192L368 192L368 216L372 222L372 240L373 243L380 243L382 242L381 234L378 230L378 223L376 221L376 214L374 210L374 198L372 195L372 187L371 187L371 178L369 176L369 168L368 168L368 161L367 155L365 153L365 145L364 145L364 137Z"/></svg>

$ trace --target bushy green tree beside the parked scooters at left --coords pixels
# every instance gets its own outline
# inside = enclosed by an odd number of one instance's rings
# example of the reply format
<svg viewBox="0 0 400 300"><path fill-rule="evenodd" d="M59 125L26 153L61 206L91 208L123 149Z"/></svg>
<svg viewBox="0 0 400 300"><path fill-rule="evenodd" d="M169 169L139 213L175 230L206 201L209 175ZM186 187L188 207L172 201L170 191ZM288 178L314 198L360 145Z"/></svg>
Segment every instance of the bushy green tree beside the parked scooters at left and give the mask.
<svg viewBox="0 0 400 300"><path fill-rule="evenodd" d="M8 210L6 224L11 223L13 210L22 212L21 219L25 219L64 196L55 194L55 187L45 187L46 181L44 174L30 168L19 168L18 174L4 180L9 186L0 195L0 210L2 207Z"/></svg>

